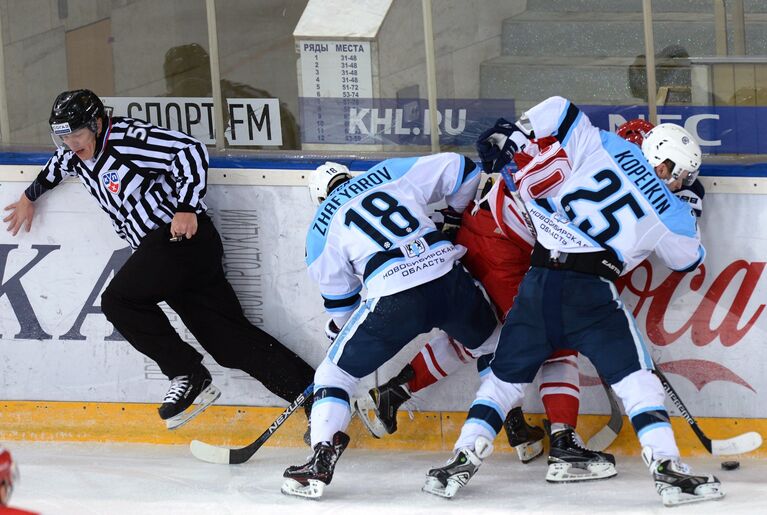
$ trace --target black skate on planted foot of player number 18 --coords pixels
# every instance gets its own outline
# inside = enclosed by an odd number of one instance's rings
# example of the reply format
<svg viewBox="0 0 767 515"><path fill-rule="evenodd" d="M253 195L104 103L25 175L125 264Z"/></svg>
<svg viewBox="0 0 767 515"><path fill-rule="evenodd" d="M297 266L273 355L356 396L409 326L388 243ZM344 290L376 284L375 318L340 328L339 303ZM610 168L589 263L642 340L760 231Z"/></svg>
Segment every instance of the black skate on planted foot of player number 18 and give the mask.
<svg viewBox="0 0 767 515"><path fill-rule="evenodd" d="M325 491L325 486L333 480L336 462L349 445L349 435L338 431L333 435L333 442L320 442L314 446L314 455L303 465L294 465L285 469L282 474L285 482L282 493L319 499Z"/></svg>

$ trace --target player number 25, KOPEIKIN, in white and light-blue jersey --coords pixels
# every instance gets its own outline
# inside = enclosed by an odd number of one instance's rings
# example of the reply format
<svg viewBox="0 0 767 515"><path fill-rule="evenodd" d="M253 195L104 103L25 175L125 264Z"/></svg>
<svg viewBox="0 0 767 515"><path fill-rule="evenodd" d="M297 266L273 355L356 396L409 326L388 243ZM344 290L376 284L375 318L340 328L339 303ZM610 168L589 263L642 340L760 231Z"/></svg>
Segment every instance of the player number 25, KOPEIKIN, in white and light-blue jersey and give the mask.
<svg viewBox="0 0 767 515"><path fill-rule="evenodd" d="M700 147L681 127L661 125L647 135L640 152L592 126L568 100L552 97L527 111L509 134L499 135L499 168L532 135L554 135L573 173L547 198L532 200L520 191L537 233L531 268L455 454L428 472L424 491L452 497L469 481L538 367L566 345L587 356L620 397L664 505L723 497L715 477L692 475L681 463L665 393L613 284L653 251L676 271L692 271L703 261L689 205L656 175L668 173L667 180L675 181L697 172Z"/></svg>

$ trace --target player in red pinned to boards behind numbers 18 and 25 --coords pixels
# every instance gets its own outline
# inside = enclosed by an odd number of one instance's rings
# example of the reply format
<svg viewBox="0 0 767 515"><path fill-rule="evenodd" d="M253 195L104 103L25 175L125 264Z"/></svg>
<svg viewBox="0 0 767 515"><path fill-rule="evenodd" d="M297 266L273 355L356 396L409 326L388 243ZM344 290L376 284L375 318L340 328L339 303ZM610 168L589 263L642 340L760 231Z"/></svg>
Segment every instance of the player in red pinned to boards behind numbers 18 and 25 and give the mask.
<svg viewBox="0 0 767 515"><path fill-rule="evenodd" d="M480 136L481 139L482 136ZM567 155L556 138L536 140L524 150L514 154L519 170L513 181L535 196L545 192L551 184L564 180L570 174ZM488 170L491 171L491 170ZM522 222L518 208L509 198L503 180L483 192L482 199L463 213L455 242L463 245L467 253L461 262L478 280L496 307L503 321L511 308L525 272L530 267L530 253L535 238ZM560 431L575 431L579 407L578 353L568 349L557 350L541 367L540 394L552 434L558 445L550 446L549 461L559 461L563 454L578 466L572 470L552 469L550 482L585 481L608 478L616 474L614 458L607 453L595 452L585 446L574 448L560 445ZM477 361L480 376L489 371L492 355ZM376 437L394 433L397 429L397 410L411 393L447 377L468 362L473 362L460 342L440 332L431 338L418 355L402 371L378 388L370 390L368 397L358 398L355 407L360 419ZM527 424L521 406L515 406L504 420L503 427L509 445L515 447L519 459L529 463L543 453L544 431ZM552 440L552 441L554 441ZM584 463L591 463L591 469ZM598 467L593 463L598 463Z"/></svg>

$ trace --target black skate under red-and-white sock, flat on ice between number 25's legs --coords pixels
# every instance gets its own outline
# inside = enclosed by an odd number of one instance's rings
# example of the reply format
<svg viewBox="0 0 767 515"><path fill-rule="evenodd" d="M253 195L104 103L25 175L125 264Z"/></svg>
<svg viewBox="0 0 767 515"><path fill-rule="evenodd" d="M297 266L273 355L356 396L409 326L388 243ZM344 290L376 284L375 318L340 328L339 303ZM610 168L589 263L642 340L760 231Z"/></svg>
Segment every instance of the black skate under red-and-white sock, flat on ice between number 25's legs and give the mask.
<svg viewBox="0 0 767 515"><path fill-rule="evenodd" d="M617 474L615 457L587 449L572 427L549 435L549 470L546 481L568 483L607 479Z"/></svg>

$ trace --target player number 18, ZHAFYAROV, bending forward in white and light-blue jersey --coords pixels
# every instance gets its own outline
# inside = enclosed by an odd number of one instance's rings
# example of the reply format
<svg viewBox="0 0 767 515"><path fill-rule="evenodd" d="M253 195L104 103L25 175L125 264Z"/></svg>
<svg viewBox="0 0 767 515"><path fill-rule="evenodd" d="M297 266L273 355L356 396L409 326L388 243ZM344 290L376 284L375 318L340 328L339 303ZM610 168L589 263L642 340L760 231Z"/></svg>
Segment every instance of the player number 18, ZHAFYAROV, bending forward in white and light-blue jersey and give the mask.
<svg viewBox="0 0 767 515"><path fill-rule="evenodd" d="M332 168L320 167L312 181L327 184L345 175ZM437 230L428 209L445 200L461 213L479 177L471 159L453 153L388 159L318 199L306 263L331 316L326 333L334 341L314 377L314 455L285 471L283 493L322 496L349 443L344 430L357 384L413 338L439 327L476 355L495 348L500 325L458 262L465 249ZM315 197L328 191L313 189Z"/></svg>

